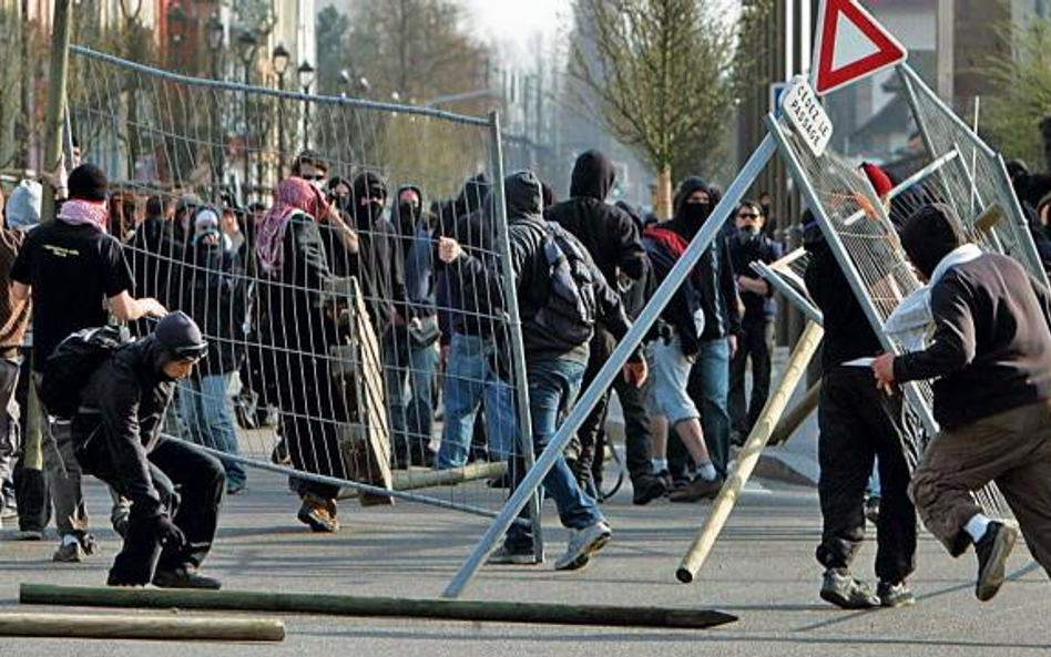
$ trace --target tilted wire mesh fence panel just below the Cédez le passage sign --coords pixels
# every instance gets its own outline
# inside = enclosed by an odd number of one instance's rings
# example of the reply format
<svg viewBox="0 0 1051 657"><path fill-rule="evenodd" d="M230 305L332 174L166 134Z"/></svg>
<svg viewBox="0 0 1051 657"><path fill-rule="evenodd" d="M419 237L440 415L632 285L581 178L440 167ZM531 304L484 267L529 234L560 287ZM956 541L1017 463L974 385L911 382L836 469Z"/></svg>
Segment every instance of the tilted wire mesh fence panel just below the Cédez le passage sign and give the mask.
<svg viewBox="0 0 1051 657"><path fill-rule="evenodd" d="M892 223L892 218L898 218L894 203L900 195L885 206L853 163L831 150L815 155L784 119L768 119L768 125L884 348L898 353L909 350L900 336L885 330L887 319L901 300L922 287ZM926 435L919 431L902 434L902 440L910 442L902 444L902 449L915 465L915 455L922 452L926 439L938 429L932 413L933 392L927 381L908 383L904 390L926 430ZM980 491L977 497L988 509L1007 509L993 485Z"/></svg>

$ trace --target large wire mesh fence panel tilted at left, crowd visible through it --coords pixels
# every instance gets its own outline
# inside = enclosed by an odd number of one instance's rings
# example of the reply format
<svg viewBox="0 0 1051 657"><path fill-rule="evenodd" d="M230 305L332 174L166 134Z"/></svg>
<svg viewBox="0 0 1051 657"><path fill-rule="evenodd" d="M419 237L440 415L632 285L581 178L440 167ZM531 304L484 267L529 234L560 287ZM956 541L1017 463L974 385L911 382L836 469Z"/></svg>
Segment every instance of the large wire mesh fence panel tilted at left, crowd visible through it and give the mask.
<svg viewBox="0 0 1051 657"><path fill-rule="evenodd" d="M288 474L322 510L300 512L315 530L334 528L340 489L494 516L506 493L484 479L520 448L532 464L503 202L489 194L497 116L72 53L70 124L123 181L110 230L136 294L186 311L210 342L165 431L222 456L234 490L246 468ZM442 235L499 285L442 268Z"/></svg>

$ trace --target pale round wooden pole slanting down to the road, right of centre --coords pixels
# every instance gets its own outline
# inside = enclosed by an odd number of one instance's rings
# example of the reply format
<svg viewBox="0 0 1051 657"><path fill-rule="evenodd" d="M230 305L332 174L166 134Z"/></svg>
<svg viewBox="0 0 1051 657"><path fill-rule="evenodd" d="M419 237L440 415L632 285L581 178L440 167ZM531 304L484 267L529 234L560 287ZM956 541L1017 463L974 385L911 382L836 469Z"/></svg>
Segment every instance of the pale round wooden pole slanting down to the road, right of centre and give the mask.
<svg viewBox="0 0 1051 657"><path fill-rule="evenodd" d="M748 440L745 441L741 453L737 454L736 464L726 476L723 490L720 491L718 496L715 497L715 502L712 504L712 512L708 513L704 526L701 527L697 537L686 552L686 556L683 557L678 569L675 571L675 576L678 577L680 582L684 584L693 582L697 571L704 565L712 546L715 545L715 540L718 538L723 525L726 524L726 520L729 517L729 512L737 503L741 491L744 490L748 478L752 476L752 471L759 462L759 455L771 438L774 423L785 412L792 392L799 379L806 373L806 367L810 362L810 358L814 357L814 352L817 351L817 346L820 343L824 333L825 330L820 325L807 321L803 335L799 336L799 341L792 350L792 357L788 359L788 365L785 367L785 372L782 374L777 389L771 394L766 406L763 407L763 412L759 414L755 428L752 429Z"/></svg>

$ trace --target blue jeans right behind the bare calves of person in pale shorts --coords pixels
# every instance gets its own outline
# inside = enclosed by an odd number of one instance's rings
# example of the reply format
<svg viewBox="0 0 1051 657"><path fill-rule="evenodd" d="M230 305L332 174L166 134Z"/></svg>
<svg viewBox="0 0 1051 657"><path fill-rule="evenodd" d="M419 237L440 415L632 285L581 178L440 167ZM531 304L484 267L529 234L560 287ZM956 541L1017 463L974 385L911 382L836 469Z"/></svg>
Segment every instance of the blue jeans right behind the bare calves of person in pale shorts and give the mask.
<svg viewBox="0 0 1051 657"><path fill-rule="evenodd" d="M723 476L729 462L729 340L701 342L690 374L690 397L701 411L701 428L712 464Z"/></svg>

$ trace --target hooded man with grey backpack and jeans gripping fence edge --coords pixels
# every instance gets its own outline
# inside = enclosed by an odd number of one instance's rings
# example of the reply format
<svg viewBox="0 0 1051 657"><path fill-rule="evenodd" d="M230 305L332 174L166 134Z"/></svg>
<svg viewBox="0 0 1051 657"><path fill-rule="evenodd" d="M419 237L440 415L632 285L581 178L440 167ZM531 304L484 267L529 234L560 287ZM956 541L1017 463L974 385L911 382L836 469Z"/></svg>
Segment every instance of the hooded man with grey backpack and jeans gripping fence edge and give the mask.
<svg viewBox="0 0 1051 657"><path fill-rule="evenodd" d="M558 224L543 220L537 176L530 172L508 176L504 194L511 266L522 317L533 448L539 453L554 437L560 412L572 406L580 389L595 319L601 318L618 339L627 332L630 321L620 297L606 285L588 250ZM499 284L499 271L468 255L456 239L441 238L438 255L455 275ZM624 376L641 386L646 378L645 361L636 356L625 367ZM523 470L514 469L517 481L521 481ZM572 530L565 554L554 567L581 568L609 543L613 532L562 456L544 476L543 487L554 497L562 524ZM530 530L512 525L490 563L534 563Z"/></svg>

